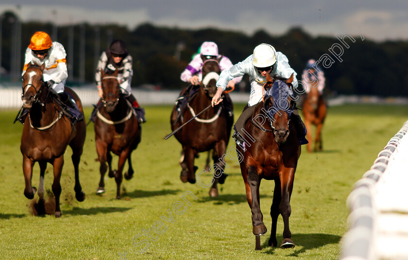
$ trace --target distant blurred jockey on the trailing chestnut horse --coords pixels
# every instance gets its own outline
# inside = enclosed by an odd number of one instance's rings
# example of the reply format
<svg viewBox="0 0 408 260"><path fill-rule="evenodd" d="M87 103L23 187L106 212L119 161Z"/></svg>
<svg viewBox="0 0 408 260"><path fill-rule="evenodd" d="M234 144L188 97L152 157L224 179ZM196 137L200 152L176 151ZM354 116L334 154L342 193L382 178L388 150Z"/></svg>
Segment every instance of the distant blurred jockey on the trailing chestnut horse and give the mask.
<svg viewBox="0 0 408 260"><path fill-rule="evenodd" d="M324 78L323 70L315 64L316 61L313 59L306 63L306 67L303 70L302 83L306 88L306 93L309 93L312 87L317 86L319 94L323 95L324 81L326 79Z"/></svg>

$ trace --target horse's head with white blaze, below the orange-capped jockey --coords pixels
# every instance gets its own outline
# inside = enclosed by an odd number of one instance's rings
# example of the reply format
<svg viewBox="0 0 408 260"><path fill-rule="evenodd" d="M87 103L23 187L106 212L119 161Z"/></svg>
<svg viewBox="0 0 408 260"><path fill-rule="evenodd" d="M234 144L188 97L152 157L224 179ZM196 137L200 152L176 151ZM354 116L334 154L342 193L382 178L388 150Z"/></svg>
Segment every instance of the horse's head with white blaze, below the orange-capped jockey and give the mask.
<svg viewBox="0 0 408 260"><path fill-rule="evenodd" d="M40 100L39 97L44 89L44 67L45 64L41 66L32 63L28 64L27 70L23 75L23 92L21 94L25 108L31 108L34 103Z"/></svg>

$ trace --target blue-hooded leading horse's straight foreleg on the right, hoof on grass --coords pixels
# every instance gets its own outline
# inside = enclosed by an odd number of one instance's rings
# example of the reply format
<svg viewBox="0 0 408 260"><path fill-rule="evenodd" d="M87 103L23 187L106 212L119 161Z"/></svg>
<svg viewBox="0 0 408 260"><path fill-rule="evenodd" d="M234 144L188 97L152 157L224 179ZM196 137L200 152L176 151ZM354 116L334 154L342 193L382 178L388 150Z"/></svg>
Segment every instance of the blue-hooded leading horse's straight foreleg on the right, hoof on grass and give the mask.
<svg viewBox="0 0 408 260"><path fill-rule="evenodd" d="M282 199L279 204L279 211L282 214L284 225L283 241L281 244L281 248L291 248L295 246L295 244L291 240L292 233L290 232L289 229L289 216L290 213L292 212L290 208L290 195L292 194L294 176L295 176L294 168L287 168L279 175L282 194Z"/></svg>

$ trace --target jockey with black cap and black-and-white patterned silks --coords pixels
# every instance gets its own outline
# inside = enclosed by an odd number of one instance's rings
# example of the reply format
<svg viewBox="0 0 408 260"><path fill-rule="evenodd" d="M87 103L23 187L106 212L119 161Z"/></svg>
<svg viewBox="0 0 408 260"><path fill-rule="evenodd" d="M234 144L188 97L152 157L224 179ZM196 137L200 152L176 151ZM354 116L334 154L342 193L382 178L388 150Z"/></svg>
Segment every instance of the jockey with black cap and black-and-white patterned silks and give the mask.
<svg viewBox="0 0 408 260"><path fill-rule="evenodd" d="M131 82L133 76L133 58L127 52L126 45L121 40L115 40L111 43L109 49L103 51L101 57L99 58L98 65L96 67L95 73L95 81L98 87L98 94L99 97L102 98L103 91L102 91L102 79L101 79L101 70L105 73L107 71L114 72L116 69L119 70L118 74L118 81L120 90L122 92L123 97L125 97L133 106L137 117L140 123L146 122L146 118L144 117L145 111L143 108L139 106L135 96L132 94ZM100 102L98 102L101 104ZM93 121L97 110L94 109L91 115L91 120Z"/></svg>

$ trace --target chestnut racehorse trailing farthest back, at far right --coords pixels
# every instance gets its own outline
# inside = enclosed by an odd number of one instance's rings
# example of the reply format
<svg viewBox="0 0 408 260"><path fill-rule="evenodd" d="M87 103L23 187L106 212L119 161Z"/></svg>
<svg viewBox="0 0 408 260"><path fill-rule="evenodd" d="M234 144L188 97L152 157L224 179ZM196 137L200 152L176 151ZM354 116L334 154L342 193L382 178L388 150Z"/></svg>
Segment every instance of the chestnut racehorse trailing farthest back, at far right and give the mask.
<svg viewBox="0 0 408 260"><path fill-rule="evenodd" d="M315 151L323 149L322 128L324 118L326 117L326 101L323 95L320 95L317 87L312 86L303 103L303 116L305 117L305 126L307 130L307 151L312 151L312 124L316 126Z"/></svg>

